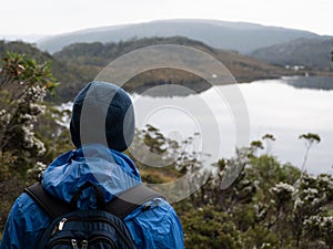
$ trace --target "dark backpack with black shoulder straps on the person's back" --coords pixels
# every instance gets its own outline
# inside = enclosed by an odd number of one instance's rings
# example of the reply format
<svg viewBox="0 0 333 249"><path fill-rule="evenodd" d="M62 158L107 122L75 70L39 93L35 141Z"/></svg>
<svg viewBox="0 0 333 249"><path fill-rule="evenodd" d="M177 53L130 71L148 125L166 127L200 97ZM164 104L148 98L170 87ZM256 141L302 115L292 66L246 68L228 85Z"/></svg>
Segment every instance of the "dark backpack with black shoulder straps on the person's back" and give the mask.
<svg viewBox="0 0 333 249"><path fill-rule="evenodd" d="M88 187L94 189L98 209L78 210L79 197ZM105 204L101 189L90 181L75 193L70 204L48 194L40 183L24 188L24 191L53 219L43 232L38 249L133 249L132 237L122 219L148 200L163 198L159 193L138 185Z"/></svg>

